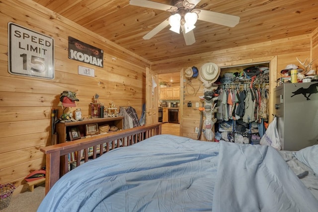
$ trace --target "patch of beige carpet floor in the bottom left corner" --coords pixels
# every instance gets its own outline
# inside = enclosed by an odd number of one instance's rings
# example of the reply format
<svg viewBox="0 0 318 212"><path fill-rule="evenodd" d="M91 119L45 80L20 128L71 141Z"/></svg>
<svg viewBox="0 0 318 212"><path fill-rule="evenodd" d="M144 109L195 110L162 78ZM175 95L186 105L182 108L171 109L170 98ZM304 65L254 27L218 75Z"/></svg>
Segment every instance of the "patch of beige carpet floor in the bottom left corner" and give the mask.
<svg viewBox="0 0 318 212"><path fill-rule="evenodd" d="M0 212L36 212L45 196L45 184L36 186L33 192L13 195L7 208Z"/></svg>

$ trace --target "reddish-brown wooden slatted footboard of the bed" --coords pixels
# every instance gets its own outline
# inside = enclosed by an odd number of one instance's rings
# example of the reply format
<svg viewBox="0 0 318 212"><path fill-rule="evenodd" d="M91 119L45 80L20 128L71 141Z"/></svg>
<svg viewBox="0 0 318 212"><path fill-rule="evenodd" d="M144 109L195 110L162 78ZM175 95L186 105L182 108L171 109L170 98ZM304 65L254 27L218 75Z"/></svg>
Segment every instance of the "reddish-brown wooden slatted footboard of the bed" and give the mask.
<svg viewBox="0 0 318 212"><path fill-rule="evenodd" d="M83 154L83 157L76 158L76 164L79 166L80 162L87 162L88 157L95 159L97 154L102 155L111 149L120 147L121 142L117 142L117 140L122 141L122 146L129 146L160 134L161 123L158 123L42 147L41 151L46 154L45 194L50 191L60 177L69 171L69 153ZM91 147L93 147L93 151L90 156L88 152ZM103 149L103 151L99 149ZM61 161L65 161L65 164Z"/></svg>

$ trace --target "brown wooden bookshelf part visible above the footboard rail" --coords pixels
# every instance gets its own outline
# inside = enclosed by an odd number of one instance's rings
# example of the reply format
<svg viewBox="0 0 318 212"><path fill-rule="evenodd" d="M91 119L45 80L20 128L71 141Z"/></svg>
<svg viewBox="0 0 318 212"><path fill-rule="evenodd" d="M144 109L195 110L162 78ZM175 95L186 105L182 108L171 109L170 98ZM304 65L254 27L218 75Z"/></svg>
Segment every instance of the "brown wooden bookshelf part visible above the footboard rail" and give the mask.
<svg viewBox="0 0 318 212"><path fill-rule="evenodd" d="M106 125L109 126L116 126L118 130L122 130L124 128L124 117L117 116L117 117L107 117L107 118L90 118L84 119L83 121L78 122L65 122L65 123L58 123L57 124L57 133L58 133L58 143L64 143L69 139L69 130L72 127L78 127L80 132L80 137L86 136L85 127L87 124L98 124L98 126Z"/></svg>

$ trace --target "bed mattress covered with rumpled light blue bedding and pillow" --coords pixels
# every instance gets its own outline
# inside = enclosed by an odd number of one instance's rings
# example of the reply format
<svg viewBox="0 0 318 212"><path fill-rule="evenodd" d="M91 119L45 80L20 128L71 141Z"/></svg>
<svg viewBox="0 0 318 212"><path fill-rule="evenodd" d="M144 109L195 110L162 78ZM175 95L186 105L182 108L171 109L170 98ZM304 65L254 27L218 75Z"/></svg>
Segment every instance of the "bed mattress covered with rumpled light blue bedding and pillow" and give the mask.
<svg viewBox="0 0 318 212"><path fill-rule="evenodd" d="M318 145L277 151L155 132L66 173L38 212L318 211Z"/></svg>

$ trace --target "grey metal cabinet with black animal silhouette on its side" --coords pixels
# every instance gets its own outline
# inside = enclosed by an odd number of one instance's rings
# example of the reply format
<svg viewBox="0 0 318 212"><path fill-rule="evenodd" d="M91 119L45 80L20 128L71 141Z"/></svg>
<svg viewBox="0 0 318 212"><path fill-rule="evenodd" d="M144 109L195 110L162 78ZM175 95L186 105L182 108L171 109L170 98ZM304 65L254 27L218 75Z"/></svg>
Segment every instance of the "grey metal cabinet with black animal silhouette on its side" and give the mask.
<svg viewBox="0 0 318 212"><path fill-rule="evenodd" d="M318 82L284 83L274 89L274 95L281 149L318 144Z"/></svg>

